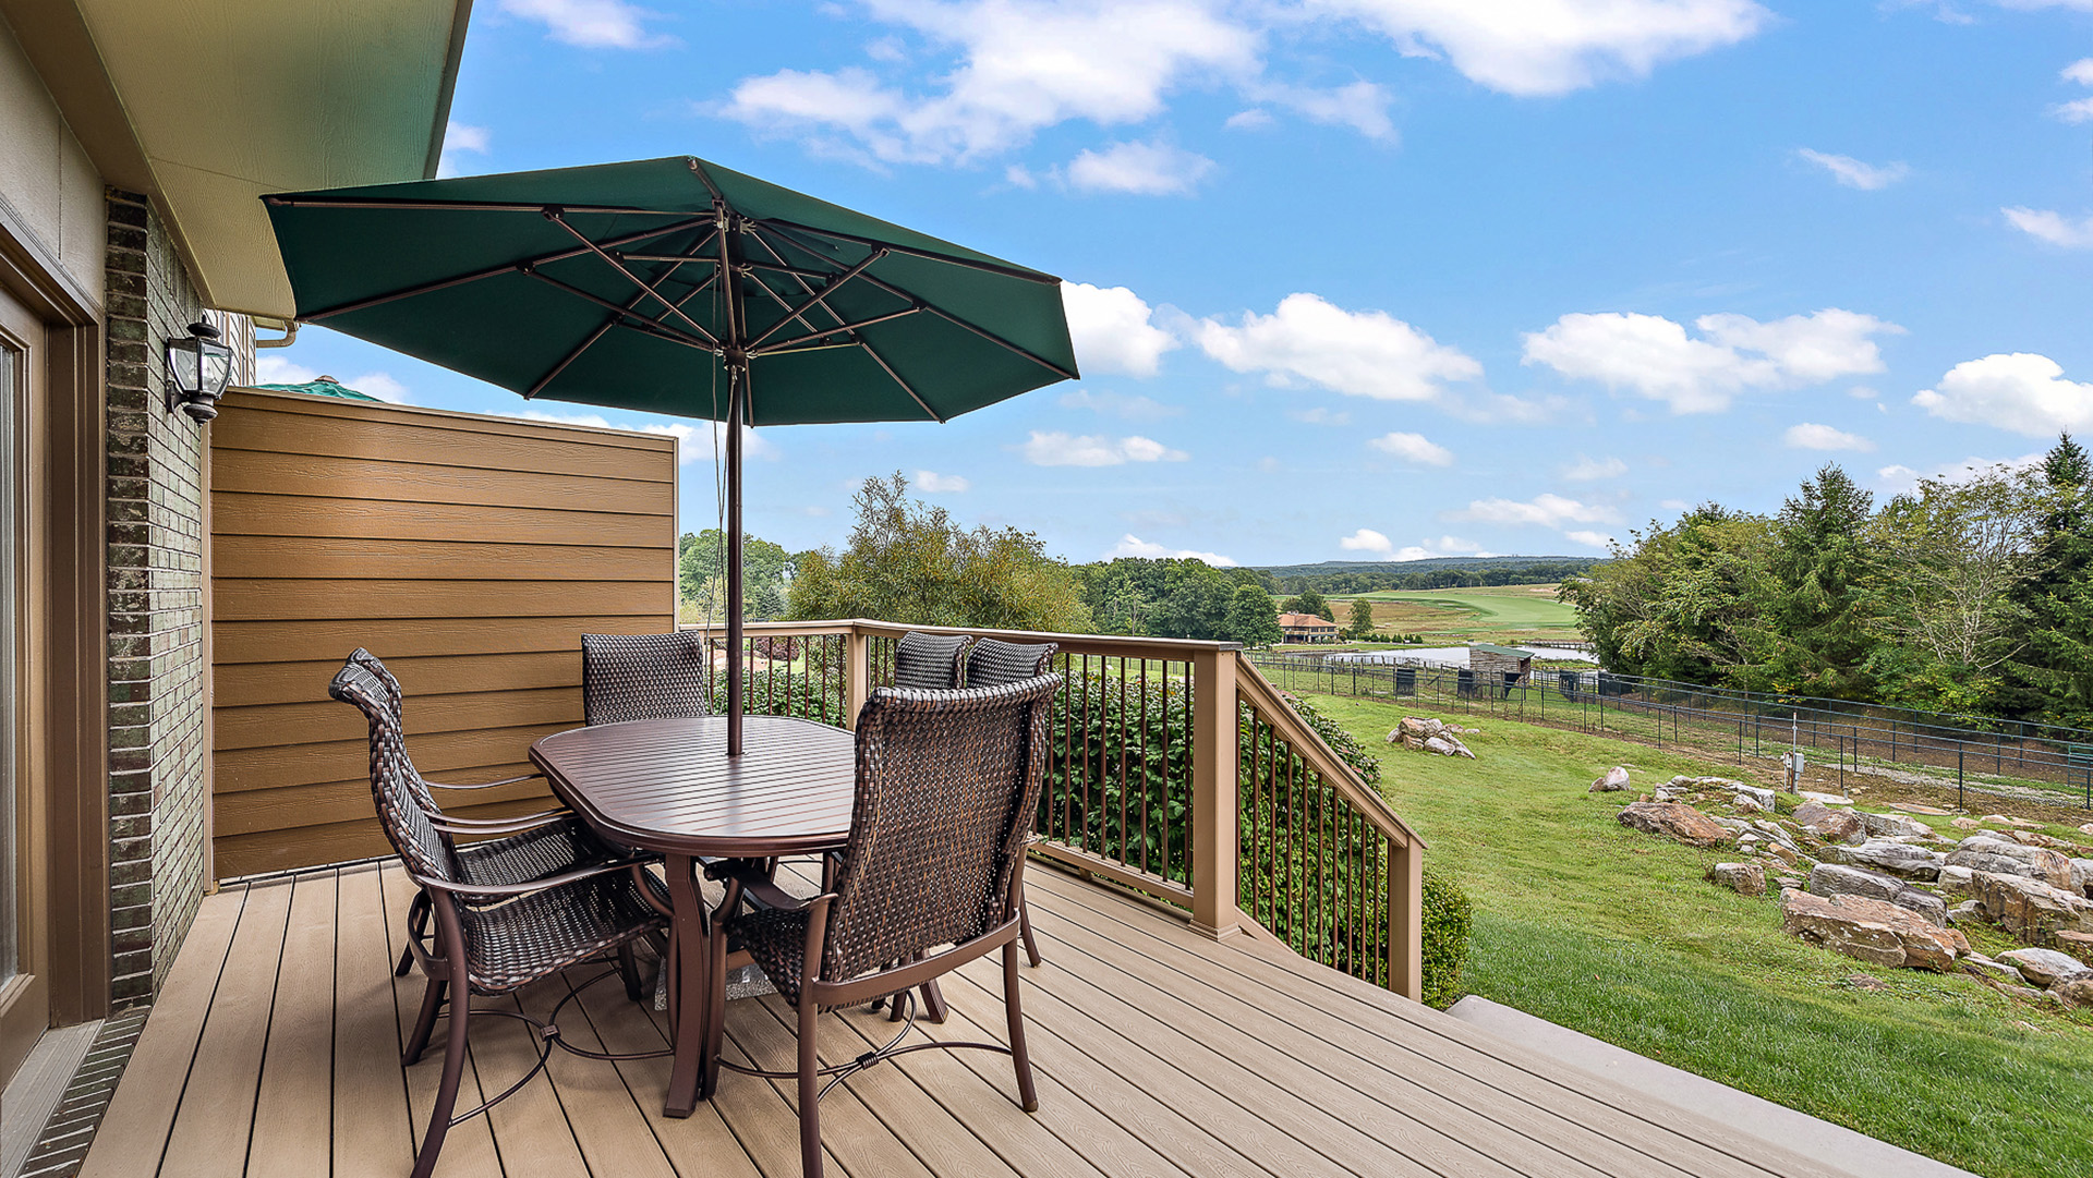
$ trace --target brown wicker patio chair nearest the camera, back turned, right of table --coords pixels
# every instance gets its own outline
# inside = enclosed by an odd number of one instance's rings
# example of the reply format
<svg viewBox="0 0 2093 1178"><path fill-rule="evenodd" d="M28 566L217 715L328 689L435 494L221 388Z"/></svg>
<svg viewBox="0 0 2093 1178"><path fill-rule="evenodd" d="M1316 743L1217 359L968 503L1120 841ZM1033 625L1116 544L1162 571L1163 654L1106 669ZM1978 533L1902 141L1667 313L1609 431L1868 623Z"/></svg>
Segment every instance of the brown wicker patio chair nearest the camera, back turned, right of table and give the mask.
<svg viewBox="0 0 2093 1178"><path fill-rule="evenodd" d="M1019 1105L1038 1109L1017 1004L1017 900L1059 686L1059 676L1040 676L992 688L875 690L858 713L856 812L835 889L797 910L735 919L756 965L800 1015L800 1067L722 1065L797 1080L806 1178L820 1178L820 1096L902 1052L1000 1050L1015 1063ZM902 1046L915 1027L913 990L998 948L1009 1046ZM850 1063L820 1067L816 1015L879 996L910 1009L902 1032ZM707 1055L716 1050L707 1044Z"/></svg>

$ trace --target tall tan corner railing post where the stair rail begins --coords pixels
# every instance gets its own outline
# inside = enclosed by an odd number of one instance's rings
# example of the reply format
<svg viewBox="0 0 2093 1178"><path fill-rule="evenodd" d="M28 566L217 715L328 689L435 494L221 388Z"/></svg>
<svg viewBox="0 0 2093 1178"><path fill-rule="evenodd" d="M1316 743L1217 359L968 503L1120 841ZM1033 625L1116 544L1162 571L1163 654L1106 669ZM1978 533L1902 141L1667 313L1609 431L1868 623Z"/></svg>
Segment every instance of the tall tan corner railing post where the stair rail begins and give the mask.
<svg viewBox="0 0 2093 1178"><path fill-rule="evenodd" d="M1191 927L1216 942L1241 931L1235 883L1241 858L1235 831L1235 651L1191 657Z"/></svg>

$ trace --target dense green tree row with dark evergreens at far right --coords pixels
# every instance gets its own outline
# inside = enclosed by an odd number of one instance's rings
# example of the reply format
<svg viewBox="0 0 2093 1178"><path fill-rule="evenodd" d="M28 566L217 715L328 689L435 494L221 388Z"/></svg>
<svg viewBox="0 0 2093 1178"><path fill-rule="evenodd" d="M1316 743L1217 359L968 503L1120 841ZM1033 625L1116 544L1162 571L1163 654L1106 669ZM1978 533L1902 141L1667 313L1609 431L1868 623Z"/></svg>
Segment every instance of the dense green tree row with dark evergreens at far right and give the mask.
<svg viewBox="0 0 2093 1178"><path fill-rule="evenodd" d="M1610 670L2093 726L2093 462L1926 479L1838 465L1775 515L1714 502L1566 580Z"/></svg>

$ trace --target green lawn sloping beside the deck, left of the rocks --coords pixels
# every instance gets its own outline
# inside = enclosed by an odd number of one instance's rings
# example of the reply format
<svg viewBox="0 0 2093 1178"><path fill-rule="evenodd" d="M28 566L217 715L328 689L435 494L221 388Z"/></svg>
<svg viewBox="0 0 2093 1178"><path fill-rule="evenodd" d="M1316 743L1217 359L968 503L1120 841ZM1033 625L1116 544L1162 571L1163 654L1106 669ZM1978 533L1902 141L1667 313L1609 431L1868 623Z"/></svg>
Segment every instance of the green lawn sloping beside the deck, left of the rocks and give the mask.
<svg viewBox="0 0 2093 1178"><path fill-rule="evenodd" d="M1614 764L1637 785L1771 774L1459 713L1478 760L1427 757L1381 743L1396 705L1312 701L1379 749L1381 789L1473 896L1467 992L1990 1178L2093 1174L2093 1017L1806 946L1773 898L1702 879L1720 852L1628 831L1620 795L1586 793ZM1846 981L1863 971L1888 990Z"/></svg>

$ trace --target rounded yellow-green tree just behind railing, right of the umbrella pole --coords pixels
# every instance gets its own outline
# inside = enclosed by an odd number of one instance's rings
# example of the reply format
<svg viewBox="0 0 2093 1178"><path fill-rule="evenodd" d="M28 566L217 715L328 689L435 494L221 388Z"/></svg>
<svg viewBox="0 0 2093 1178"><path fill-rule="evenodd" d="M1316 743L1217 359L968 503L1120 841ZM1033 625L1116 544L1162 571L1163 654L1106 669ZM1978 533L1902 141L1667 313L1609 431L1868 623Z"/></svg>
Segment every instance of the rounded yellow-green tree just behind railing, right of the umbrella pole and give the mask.
<svg viewBox="0 0 2093 1178"><path fill-rule="evenodd" d="M942 506L908 498L908 479L864 479L841 552L800 557L795 619L877 617L908 626L1086 632L1082 584L1017 527L963 527Z"/></svg>

